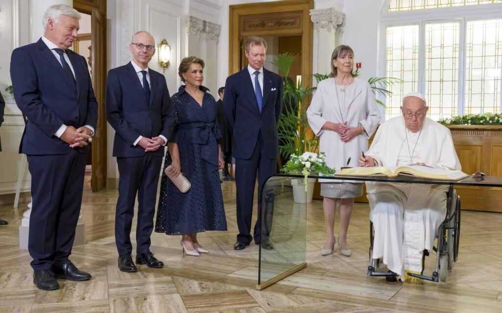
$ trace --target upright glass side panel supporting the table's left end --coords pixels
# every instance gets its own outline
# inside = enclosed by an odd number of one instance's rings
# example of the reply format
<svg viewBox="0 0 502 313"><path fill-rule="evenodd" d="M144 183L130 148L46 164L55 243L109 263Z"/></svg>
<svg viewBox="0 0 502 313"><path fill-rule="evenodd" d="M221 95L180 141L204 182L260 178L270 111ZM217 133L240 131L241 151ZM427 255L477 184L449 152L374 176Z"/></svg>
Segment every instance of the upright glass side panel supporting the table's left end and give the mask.
<svg viewBox="0 0 502 313"><path fill-rule="evenodd" d="M309 179L310 190L314 182L315 179ZM306 199L303 178L275 176L265 183L260 240L263 242L265 236L269 236L273 249L260 246L259 285L305 264Z"/></svg>

